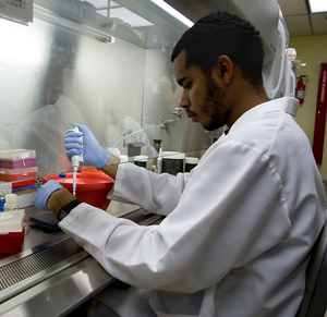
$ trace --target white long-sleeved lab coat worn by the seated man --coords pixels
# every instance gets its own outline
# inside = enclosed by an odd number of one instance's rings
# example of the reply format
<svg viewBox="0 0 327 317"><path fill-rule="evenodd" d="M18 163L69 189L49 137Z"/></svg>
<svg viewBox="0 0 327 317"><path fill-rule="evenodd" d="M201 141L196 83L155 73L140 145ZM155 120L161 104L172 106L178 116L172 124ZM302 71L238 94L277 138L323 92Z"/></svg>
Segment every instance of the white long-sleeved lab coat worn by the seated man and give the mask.
<svg viewBox="0 0 327 317"><path fill-rule="evenodd" d="M296 109L287 97L249 110L190 174L120 166L108 197L166 215L159 225L81 204L60 227L110 275L153 290L157 316L294 316L325 221ZM122 316L152 316L134 309Z"/></svg>

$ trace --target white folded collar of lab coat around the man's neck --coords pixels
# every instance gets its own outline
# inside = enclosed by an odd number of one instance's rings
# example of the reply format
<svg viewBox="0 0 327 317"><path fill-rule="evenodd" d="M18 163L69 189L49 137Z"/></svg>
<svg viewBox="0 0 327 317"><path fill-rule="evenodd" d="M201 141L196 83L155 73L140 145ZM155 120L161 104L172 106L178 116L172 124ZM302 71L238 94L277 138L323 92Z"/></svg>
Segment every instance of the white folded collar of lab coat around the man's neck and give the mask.
<svg viewBox="0 0 327 317"><path fill-rule="evenodd" d="M299 100L293 97L282 97L274 100L269 100L267 102L261 103L255 106L254 108L247 110L245 113L243 113L230 127L230 131L234 130L235 127L242 125L249 120L252 120L254 117L282 110L286 113L291 114L292 117L296 115L299 108Z"/></svg>

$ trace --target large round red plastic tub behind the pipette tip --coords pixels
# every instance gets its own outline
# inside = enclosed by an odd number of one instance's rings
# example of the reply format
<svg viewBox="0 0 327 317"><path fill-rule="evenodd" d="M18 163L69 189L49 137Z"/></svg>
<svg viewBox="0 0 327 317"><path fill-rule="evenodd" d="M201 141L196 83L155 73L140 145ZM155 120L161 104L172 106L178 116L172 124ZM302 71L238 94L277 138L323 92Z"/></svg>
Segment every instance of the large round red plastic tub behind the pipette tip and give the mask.
<svg viewBox="0 0 327 317"><path fill-rule="evenodd" d="M59 174L50 174L43 178L43 183L55 180L63 187L73 193L73 173L66 173L64 179ZM76 198L83 203L106 210L110 204L108 193L113 186L113 180L105 173L77 172L76 173Z"/></svg>

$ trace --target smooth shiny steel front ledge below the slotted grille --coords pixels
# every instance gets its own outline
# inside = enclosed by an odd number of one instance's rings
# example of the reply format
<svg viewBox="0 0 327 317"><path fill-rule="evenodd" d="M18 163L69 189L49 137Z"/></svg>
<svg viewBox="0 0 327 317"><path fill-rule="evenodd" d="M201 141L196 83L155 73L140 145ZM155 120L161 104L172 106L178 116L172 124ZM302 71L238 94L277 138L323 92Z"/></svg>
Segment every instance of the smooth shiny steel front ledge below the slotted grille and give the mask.
<svg viewBox="0 0 327 317"><path fill-rule="evenodd" d="M1 316L65 316L114 279L92 257L0 305Z"/></svg>

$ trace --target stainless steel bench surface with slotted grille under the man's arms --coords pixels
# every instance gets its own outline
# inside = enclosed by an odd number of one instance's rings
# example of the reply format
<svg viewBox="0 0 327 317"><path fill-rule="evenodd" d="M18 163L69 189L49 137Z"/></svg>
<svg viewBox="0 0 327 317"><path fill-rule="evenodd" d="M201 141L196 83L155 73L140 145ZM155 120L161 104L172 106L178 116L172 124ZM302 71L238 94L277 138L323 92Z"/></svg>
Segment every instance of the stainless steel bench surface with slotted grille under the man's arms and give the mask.
<svg viewBox="0 0 327 317"><path fill-rule="evenodd" d="M28 221L44 212L26 207L28 230L22 252L0 255L0 316L65 316L116 281L63 231L51 232ZM118 202L111 202L107 212L141 225L162 220Z"/></svg>

